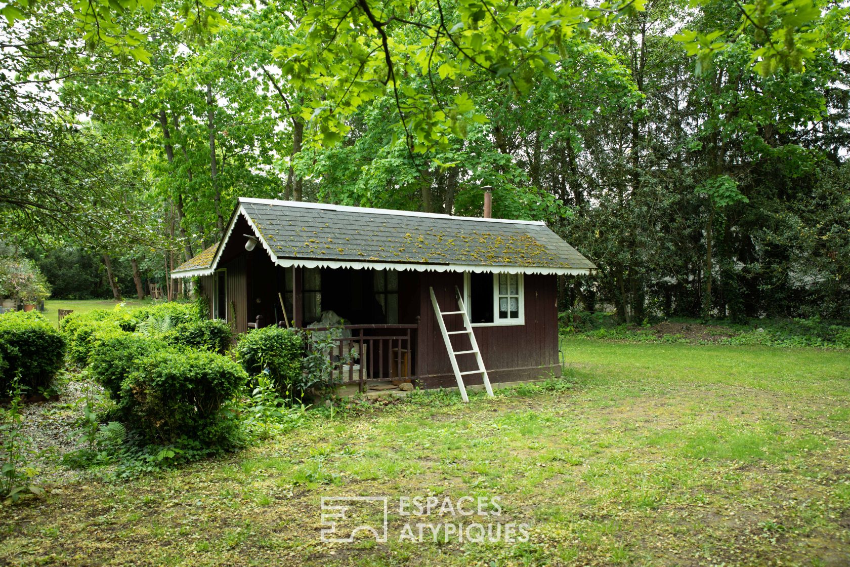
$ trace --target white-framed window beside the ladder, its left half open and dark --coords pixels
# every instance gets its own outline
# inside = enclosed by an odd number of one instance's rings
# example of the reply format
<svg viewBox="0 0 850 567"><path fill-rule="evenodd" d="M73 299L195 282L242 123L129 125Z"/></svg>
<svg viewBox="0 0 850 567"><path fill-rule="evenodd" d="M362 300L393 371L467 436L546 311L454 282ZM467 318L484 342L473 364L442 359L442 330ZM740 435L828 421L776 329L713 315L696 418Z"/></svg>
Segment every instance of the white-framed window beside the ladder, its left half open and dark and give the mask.
<svg viewBox="0 0 850 567"><path fill-rule="evenodd" d="M465 288L473 326L524 325L522 274L467 273Z"/></svg>

